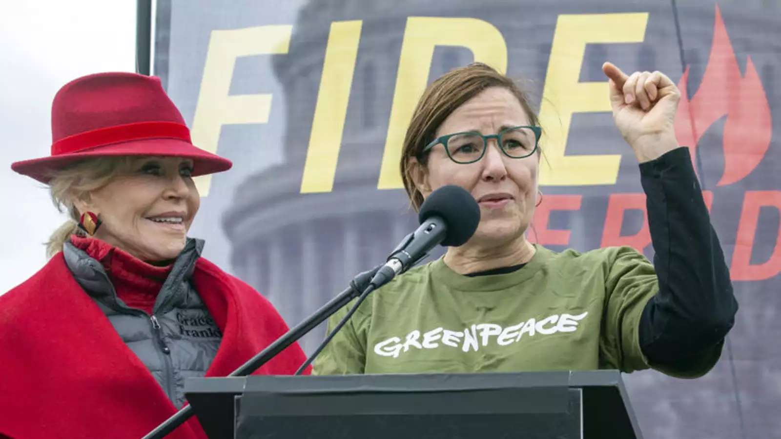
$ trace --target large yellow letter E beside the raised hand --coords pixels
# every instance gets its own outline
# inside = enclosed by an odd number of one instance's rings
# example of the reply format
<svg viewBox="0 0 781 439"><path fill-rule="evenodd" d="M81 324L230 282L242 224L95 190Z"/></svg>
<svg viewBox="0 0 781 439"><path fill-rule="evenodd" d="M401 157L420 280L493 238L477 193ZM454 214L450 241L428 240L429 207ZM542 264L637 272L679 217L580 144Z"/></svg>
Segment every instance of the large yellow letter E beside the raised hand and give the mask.
<svg viewBox="0 0 781 439"><path fill-rule="evenodd" d="M608 82L578 82L580 66L588 43L643 41L647 21L647 13L558 16L540 105L547 137L542 148L551 172L540 170L540 184L615 184L621 155L565 155L573 112L611 111Z"/></svg>

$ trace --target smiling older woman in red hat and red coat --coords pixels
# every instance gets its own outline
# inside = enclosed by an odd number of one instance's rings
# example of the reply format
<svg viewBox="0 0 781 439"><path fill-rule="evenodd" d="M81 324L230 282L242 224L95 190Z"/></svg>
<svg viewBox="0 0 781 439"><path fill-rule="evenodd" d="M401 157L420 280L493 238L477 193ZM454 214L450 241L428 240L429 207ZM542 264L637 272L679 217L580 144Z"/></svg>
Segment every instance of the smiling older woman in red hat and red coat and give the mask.
<svg viewBox="0 0 781 439"><path fill-rule="evenodd" d="M192 177L230 161L191 144L159 79L98 73L52 105L52 155L12 164L70 219L49 262L0 296L0 437L141 437L287 331L273 306L187 237ZM287 348L257 373L291 374ZM197 419L171 437L205 437Z"/></svg>

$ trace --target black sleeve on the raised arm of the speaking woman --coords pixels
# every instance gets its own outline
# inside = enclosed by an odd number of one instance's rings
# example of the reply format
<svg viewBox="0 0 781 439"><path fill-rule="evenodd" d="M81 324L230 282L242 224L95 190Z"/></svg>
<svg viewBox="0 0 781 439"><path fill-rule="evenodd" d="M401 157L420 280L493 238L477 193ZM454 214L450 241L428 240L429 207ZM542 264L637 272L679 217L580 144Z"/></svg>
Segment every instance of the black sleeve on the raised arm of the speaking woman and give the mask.
<svg viewBox="0 0 781 439"><path fill-rule="evenodd" d="M657 366L685 368L721 345L737 302L688 148L640 164L659 291L640 318L640 348Z"/></svg>

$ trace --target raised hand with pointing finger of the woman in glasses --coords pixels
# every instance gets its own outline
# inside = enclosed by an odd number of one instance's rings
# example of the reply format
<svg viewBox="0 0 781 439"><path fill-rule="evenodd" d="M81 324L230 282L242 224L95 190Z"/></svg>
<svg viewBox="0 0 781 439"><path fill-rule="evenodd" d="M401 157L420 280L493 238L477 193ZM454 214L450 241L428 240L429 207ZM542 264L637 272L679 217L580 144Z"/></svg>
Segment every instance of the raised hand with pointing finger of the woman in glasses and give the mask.
<svg viewBox="0 0 781 439"><path fill-rule="evenodd" d="M610 78L613 120L639 162L648 162L678 148L675 118L680 92L661 72L627 76L611 62L602 65Z"/></svg>

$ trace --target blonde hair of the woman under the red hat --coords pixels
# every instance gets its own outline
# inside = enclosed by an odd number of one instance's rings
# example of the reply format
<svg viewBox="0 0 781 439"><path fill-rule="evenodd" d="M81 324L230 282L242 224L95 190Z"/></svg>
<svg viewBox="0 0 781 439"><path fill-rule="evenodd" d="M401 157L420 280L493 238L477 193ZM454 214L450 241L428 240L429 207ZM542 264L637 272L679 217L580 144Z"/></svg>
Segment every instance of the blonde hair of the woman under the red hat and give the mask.
<svg viewBox="0 0 781 439"><path fill-rule="evenodd" d="M116 157L96 157L84 159L66 166L62 170L52 171L48 182L52 202L59 212L68 212L68 219L52 233L46 242L46 257L51 258L70 240L71 235L84 235L79 228L80 213L74 205L76 200L86 200L91 191L96 191L111 180L127 173L134 157L126 155Z"/></svg>

